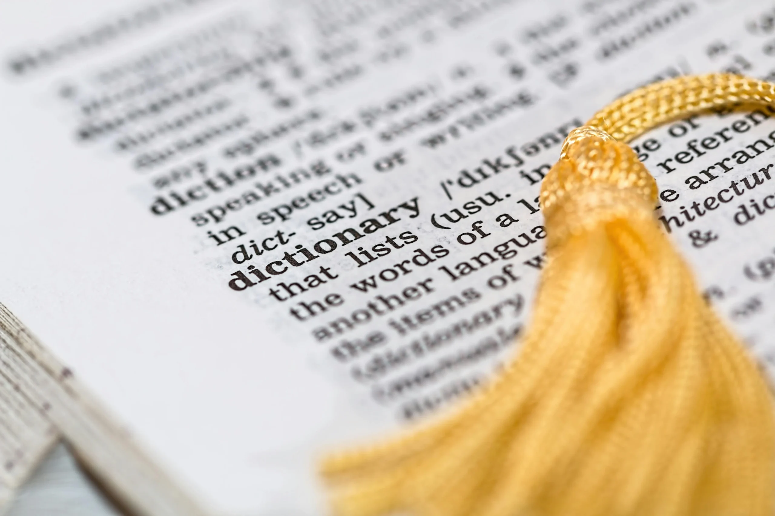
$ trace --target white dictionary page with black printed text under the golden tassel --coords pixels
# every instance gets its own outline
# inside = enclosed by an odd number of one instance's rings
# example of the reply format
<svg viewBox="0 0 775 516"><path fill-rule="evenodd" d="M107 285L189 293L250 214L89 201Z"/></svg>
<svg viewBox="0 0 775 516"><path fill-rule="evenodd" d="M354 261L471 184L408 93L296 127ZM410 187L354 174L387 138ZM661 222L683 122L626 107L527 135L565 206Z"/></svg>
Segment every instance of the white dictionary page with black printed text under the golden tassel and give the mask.
<svg viewBox="0 0 775 516"><path fill-rule="evenodd" d="M50 352L25 367L56 371L57 425L88 449L72 422L110 419L188 497L148 514L313 516L322 453L443 415L515 353L565 135L661 78L775 77L775 10L6 0L0 57L0 301ZM765 364L773 112L632 144ZM119 490L167 485L114 462Z"/></svg>

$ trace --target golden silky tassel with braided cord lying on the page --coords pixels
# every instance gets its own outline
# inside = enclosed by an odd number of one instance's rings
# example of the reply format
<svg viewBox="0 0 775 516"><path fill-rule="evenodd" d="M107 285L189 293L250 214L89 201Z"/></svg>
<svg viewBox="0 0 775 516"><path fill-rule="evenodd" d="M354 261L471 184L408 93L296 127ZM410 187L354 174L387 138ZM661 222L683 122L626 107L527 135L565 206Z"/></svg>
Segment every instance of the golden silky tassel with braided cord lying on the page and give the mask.
<svg viewBox="0 0 775 516"><path fill-rule="evenodd" d="M571 132L541 187L549 261L517 356L453 415L325 460L335 513L773 516L768 384L657 226L656 182L622 143L773 100L759 80L681 77Z"/></svg>

